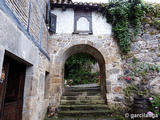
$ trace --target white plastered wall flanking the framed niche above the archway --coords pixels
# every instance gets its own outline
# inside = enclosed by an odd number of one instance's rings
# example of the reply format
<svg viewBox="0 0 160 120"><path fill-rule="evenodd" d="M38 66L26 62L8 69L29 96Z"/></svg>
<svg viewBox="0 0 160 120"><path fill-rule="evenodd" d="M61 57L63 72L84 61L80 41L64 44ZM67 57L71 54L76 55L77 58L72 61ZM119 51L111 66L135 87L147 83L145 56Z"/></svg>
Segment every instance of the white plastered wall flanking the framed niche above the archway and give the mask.
<svg viewBox="0 0 160 120"><path fill-rule="evenodd" d="M52 13L57 15L57 34L72 34L74 32L74 11L67 9L62 11L60 8L55 8ZM83 26L80 26L83 27ZM106 19L97 12L92 12L92 30L93 35L111 34L111 25L106 23Z"/></svg>

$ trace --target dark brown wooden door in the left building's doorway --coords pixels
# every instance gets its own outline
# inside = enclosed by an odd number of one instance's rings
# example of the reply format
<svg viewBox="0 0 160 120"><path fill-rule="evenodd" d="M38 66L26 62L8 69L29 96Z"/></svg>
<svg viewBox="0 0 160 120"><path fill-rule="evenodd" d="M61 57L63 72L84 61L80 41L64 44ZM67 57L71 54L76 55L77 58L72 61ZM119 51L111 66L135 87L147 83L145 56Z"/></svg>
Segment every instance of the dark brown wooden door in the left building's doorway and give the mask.
<svg viewBox="0 0 160 120"><path fill-rule="evenodd" d="M2 120L21 120L23 108L23 92L26 67L10 58L6 58L5 65L9 65L6 84L3 86L3 114Z"/></svg>

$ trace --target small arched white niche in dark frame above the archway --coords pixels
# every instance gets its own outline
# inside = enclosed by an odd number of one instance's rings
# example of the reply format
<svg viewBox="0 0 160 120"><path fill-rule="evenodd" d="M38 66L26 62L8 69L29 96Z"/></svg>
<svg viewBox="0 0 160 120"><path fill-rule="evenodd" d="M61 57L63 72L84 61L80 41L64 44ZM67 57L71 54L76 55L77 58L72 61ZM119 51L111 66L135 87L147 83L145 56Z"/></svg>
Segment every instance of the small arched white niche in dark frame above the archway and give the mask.
<svg viewBox="0 0 160 120"><path fill-rule="evenodd" d="M92 34L92 13L90 11L74 11L74 34Z"/></svg>

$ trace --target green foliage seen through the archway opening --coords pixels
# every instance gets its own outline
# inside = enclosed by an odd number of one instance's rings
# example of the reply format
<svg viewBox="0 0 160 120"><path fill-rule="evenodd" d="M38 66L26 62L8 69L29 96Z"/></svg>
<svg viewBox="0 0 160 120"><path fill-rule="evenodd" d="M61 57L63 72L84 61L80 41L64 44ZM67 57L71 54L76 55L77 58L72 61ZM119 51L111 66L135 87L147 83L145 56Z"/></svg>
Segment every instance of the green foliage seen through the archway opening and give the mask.
<svg viewBox="0 0 160 120"><path fill-rule="evenodd" d="M72 79L72 85L96 83L98 73L91 73L91 65L95 63L95 58L89 54L72 55L65 64L65 79Z"/></svg>

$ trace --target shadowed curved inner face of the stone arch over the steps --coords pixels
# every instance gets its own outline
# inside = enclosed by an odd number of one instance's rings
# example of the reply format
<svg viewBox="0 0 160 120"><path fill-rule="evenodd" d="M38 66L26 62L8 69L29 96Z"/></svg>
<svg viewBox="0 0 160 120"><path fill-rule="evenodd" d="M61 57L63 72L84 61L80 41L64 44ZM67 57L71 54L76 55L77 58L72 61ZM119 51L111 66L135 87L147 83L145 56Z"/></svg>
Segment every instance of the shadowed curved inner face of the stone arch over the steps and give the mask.
<svg viewBox="0 0 160 120"><path fill-rule="evenodd" d="M77 53L87 53L93 56L96 61L99 64L100 68L100 88L101 92L104 98L106 98L106 70L105 70L105 60L103 55L94 47L87 45L87 44L79 44L74 45L72 47L69 47L65 51L61 51L61 55L57 56L55 59L55 65L57 69L54 69L54 77L53 77L53 83L55 82L55 88L58 90L62 89L64 91L64 66L66 60ZM61 86L61 88L58 88L58 86ZM56 91L57 91L56 89Z"/></svg>

